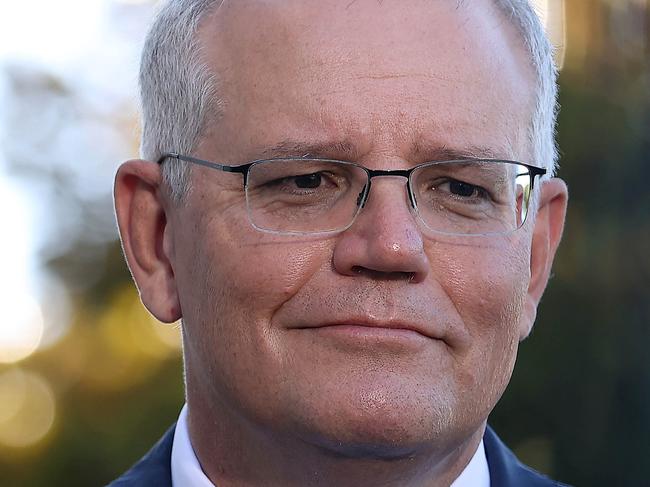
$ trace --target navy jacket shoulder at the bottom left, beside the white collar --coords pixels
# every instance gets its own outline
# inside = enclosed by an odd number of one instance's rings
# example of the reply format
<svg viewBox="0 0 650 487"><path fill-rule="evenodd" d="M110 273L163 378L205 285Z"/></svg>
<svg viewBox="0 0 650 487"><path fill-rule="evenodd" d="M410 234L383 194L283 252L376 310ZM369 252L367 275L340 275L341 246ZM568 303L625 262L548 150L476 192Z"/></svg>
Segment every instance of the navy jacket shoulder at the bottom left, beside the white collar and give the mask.
<svg viewBox="0 0 650 487"><path fill-rule="evenodd" d="M133 465L120 478L111 482L108 487L171 487L171 457L175 427L175 424L172 425L138 463Z"/></svg>

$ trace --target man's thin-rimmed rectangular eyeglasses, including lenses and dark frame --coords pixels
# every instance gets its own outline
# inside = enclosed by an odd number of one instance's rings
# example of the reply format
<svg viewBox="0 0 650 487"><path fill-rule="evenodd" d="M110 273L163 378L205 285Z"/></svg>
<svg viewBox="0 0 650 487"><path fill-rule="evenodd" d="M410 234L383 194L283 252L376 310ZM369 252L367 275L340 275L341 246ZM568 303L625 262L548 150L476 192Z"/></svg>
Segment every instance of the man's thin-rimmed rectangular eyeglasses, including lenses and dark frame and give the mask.
<svg viewBox="0 0 650 487"><path fill-rule="evenodd" d="M404 177L412 210L426 229L450 235L503 235L526 221L536 176L521 162L462 159L425 162L408 170L368 169L331 159L278 158L228 166L190 156L167 158L244 176L254 228L285 235L330 234L349 228L375 177Z"/></svg>

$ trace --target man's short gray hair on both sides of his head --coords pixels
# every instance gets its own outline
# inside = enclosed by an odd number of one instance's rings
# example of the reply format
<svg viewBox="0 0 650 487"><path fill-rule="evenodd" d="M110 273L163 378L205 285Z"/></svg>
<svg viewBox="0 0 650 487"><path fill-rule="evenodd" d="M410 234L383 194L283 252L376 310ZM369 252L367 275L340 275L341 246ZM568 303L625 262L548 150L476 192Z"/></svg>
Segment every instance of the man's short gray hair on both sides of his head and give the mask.
<svg viewBox="0 0 650 487"><path fill-rule="evenodd" d="M157 161L168 151L195 150L208 121L218 117L217 73L203 57L201 22L223 0L167 0L145 40L140 63L141 155ZM493 0L522 35L537 76L535 109L528 130L534 164L552 175L557 164L557 69L553 49L528 0ZM179 201L188 189L188 166L166 164L163 177Z"/></svg>

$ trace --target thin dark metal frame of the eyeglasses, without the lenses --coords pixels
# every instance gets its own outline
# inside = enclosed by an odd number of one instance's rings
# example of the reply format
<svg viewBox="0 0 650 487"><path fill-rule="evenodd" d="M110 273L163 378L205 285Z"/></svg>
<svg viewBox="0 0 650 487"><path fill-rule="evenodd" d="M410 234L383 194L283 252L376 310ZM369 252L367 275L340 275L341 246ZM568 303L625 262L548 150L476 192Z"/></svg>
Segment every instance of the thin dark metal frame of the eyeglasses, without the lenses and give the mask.
<svg viewBox="0 0 650 487"><path fill-rule="evenodd" d="M213 161L206 161L204 159L198 159L196 157L192 156L186 156L182 154L178 154L176 152L166 152L163 155L160 156L160 158L157 161L158 165L162 165L162 163L166 159L178 159L180 161L185 161L185 162L190 162L192 164L197 164L199 166L204 166L210 169L216 169L218 171L223 171L223 172L230 172L230 173L239 173L243 176L243 183L244 183L244 191L247 193L247 184L248 184L248 174L250 173L250 170L253 166L261 163L266 163L266 162L272 162L272 161L282 161L282 160L300 160L303 159L302 157L275 157L275 158L270 158L270 159L257 159L254 161L247 162L245 164L240 164L236 166L230 166L227 164L220 164L218 162L213 162ZM338 164L345 164L349 166L355 166L360 169L363 169L363 171L367 175L367 184L364 186L364 190L359 194L359 197L357 198L357 212L354 214L352 217L352 221L344 227L336 230L324 230L320 232L298 232L298 231L278 231L278 230L270 230L267 228L262 228L258 227L254 222L253 219L251 218L250 211L248 213L248 219L251 225L256 228L257 230L267 232L267 233L276 233L276 234L282 234L282 235L325 235L325 234L333 234L333 233L339 233L347 230L352 226L354 221L356 220L359 212L361 209L365 206L366 201L368 200L368 196L370 195L370 188L372 186L372 178L375 177L404 177L406 178L406 192L408 193L409 197L409 202L411 203L411 207L415 211L415 213L418 215L418 218L422 220L422 223L431 231L436 232L436 233L441 233L441 234L446 234L446 235L456 235L456 234L451 234L448 232L443 232L441 230L435 230L433 228L430 228L425 222L422 216L420 216L419 211L418 211L418 205L417 205L417 199L415 197L415 193L413 192L413 189L411 187L411 174L413 174L414 171L425 167L425 166L430 166L430 165L436 165L436 164L449 164L449 163L468 163L468 162L488 162L488 163L505 163L505 164L512 164L512 165L517 165L517 166L522 166L525 167L528 170L528 174L530 175L530 195L533 194L533 190L535 189L535 179L539 176L540 178L544 176L547 171L546 169L538 166L533 166L531 164L526 164L523 162L519 161L512 161L508 159L491 159L491 158L466 158L466 159L454 159L454 160L446 160L446 161L428 161L428 162L423 162L421 164L418 164L417 166L414 166L410 169L369 169L365 166L362 166L361 164L357 164L355 162L349 162L349 161L341 161L338 159L327 159L327 158L318 158L318 157L309 157L309 158L304 158L305 160L309 161L320 161L320 162L331 162L331 163L338 163ZM518 174L517 176L523 176L526 173L523 174ZM530 197L530 196L529 196ZM248 199L248 196L246 196ZM528 202L530 203L530 201ZM248 203L247 203L248 206ZM526 223L526 220L528 219L528 211L526 211L526 215L524 216L521 225L518 226L517 228L513 229L512 232L518 230L519 228L523 227L524 224ZM511 232L507 232L506 235ZM463 235L467 237L472 237L472 236L485 236L485 235L492 235L492 234L458 234L458 235ZM499 233L501 235L501 233Z"/></svg>

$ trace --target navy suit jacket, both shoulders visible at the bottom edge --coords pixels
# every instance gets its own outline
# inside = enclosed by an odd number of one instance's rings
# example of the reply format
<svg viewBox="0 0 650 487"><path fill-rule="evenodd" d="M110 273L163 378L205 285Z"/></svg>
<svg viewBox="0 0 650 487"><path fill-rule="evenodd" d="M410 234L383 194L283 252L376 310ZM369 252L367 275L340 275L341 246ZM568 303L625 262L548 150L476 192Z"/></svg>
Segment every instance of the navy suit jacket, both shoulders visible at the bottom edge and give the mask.
<svg viewBox="0 0 650 487"><path fill-rule="evenodd" d="M112 482L109 487L172 487L171 457L173 440L174 426L165 433L165 436L156 443L142 460L119 479ZM490 469L491 487L565 486L565 484L555 482L520 463L514 453L501 442L489 426L485 430L483 443Z"/></svg>

